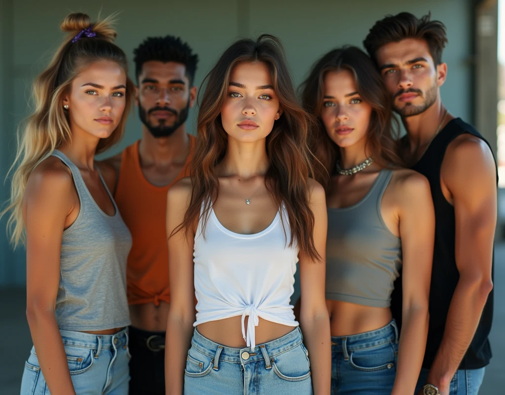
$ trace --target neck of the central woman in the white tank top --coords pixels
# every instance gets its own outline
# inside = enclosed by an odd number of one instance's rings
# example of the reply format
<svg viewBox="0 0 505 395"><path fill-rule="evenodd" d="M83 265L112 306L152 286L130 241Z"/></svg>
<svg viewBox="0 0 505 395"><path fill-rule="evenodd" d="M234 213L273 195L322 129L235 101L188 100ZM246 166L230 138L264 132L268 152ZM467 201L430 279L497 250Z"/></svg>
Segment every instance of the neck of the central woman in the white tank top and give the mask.
<svg viewBox="0 0 505 395"><path fill-rule="evenodd" d="M270 165L265 143L266 140L242 143L228 137L228 149L220 164L222 175L241 179L265 175Z"/></svg>

